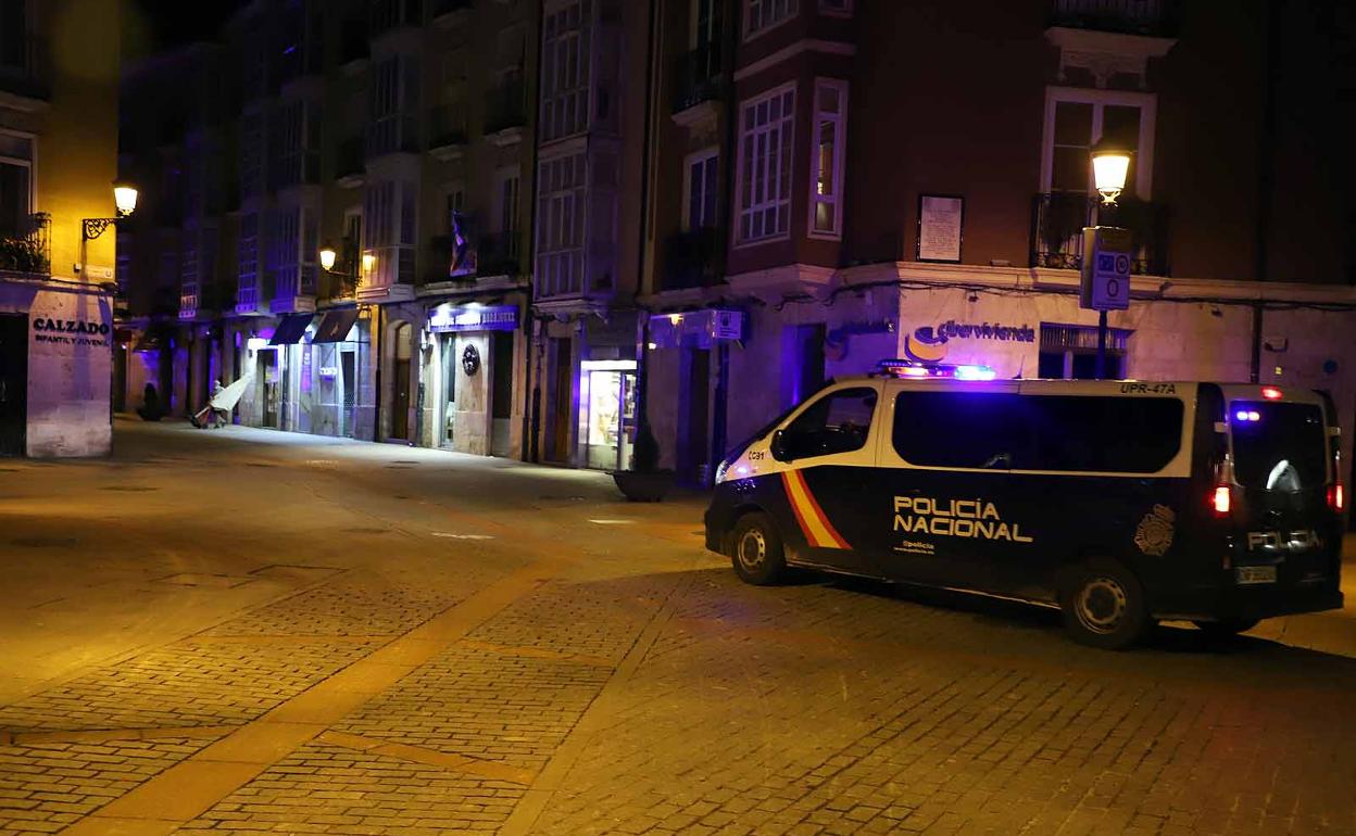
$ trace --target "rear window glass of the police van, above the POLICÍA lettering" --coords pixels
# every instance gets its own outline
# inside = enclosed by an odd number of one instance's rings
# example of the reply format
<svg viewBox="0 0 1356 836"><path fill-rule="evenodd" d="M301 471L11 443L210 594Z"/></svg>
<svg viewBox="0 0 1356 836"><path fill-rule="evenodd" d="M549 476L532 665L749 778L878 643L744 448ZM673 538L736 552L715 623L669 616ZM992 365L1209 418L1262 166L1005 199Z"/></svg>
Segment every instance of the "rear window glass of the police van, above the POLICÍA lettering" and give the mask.
<svg viewBox="0 0 1356 836"><path fill-rule="evenodd" d="M1295 493L1328 484L1323 411L1314 404L1234 401L1234 476L1245 488Z"/></svg>

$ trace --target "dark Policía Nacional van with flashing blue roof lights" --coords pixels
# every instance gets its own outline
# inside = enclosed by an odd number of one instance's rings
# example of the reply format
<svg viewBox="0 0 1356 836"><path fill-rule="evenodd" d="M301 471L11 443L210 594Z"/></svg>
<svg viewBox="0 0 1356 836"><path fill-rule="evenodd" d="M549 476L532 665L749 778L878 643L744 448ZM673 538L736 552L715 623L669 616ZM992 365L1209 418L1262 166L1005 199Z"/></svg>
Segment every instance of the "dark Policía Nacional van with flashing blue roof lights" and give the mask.
<svg viewBox="0 0 1356 836"><path fill-rule="evenodd" d="M706 547L750 584L807 566L1056 604L1101 648L1159 619L1233 634L1342 606L1338 457L1319 392L891 360L721 462Z"/></svg>

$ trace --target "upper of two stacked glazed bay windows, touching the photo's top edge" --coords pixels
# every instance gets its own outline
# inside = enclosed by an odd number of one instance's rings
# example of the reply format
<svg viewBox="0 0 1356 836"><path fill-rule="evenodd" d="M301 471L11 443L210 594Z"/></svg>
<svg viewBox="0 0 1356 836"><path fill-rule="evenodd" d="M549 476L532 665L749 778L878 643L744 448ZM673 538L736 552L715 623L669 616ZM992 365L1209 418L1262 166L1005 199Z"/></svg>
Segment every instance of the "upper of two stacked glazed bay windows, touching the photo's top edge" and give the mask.
<svg viewBox="0 0 1356 836"><path fill-rule="evenodd" d="M541 53L541 138L568 137L589 125L590 0L545 16Z"/></svg>

